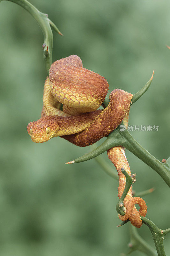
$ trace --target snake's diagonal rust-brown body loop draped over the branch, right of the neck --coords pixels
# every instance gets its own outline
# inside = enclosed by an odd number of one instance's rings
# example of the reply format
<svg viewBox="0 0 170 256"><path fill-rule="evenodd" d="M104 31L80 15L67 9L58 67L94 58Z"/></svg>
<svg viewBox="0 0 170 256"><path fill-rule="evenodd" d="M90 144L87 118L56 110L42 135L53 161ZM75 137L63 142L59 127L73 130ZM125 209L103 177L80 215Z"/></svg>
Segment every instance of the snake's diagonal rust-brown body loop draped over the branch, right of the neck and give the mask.
<svg viewBox="0 0 170 256"><path fill-rule="evenodd" d="M133 94L115 89L111 92L110 103L83 132L64 136L71 143L86 147L112 132L126 116Z"/></svg>

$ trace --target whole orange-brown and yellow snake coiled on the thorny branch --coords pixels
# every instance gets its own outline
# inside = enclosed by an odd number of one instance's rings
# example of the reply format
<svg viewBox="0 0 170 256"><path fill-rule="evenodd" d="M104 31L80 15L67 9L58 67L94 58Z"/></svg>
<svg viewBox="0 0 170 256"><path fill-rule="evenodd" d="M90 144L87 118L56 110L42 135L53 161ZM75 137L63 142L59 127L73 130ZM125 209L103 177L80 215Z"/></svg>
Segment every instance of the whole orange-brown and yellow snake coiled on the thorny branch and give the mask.
<svg viewBox="0 0 170 256"><path fill-rule="evenodd" d="M108 86L103 76L84 68L77 55L53 62L44 84L41 117L27 125L32 141L43 143L60 136L79 147L86 147L114 131L122 121L127 128L133 94L115 89L109 95L108 106L98 109L107 95ZM126 184L121 168L131 175L125 148L110 148L107 155L119 175L120 198ZM140 206L139 212L135 204ZM132 196L132 185L124 206L125 215L119 214L119 219L129 219L133 226L140 228L140 215L145 217L147 206L142 198Z"/></svg>

